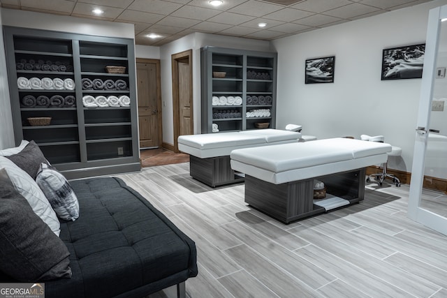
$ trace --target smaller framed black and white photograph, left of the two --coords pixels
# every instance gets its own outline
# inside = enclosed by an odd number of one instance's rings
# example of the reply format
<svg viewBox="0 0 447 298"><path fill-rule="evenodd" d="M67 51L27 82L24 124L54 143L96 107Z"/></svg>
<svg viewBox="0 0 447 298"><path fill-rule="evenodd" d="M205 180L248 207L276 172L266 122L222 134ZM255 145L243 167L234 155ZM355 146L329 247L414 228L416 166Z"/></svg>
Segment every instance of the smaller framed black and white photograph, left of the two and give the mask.
<svg viewBox="0 0 447 298"><path fill-rule="evenodd" d="M333 83L335 56L306 60L306 84Z"/></svg>

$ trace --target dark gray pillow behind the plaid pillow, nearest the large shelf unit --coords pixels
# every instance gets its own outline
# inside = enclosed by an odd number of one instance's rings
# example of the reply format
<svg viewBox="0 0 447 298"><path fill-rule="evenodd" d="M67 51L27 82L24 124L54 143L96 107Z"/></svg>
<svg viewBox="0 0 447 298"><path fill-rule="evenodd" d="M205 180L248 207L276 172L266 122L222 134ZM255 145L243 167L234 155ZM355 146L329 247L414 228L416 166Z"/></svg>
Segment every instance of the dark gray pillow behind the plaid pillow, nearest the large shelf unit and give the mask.
<svg viewBox="0 0 447 298"><path fill-rule="evenodd" d="M13 163L18 165L22 170L27 172L34 180L36 180L37 171L41 163L47 163L45 156L36 142L31 141L22 151L17 154L6 156Z"/></svg>

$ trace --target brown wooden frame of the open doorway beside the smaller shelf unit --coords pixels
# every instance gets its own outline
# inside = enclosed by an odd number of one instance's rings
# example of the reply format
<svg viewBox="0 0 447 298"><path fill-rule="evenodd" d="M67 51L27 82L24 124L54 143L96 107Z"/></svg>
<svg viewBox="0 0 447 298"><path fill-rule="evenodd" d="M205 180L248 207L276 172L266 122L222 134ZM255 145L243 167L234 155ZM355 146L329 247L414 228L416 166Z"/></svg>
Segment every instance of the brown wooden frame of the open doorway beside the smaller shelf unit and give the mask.
<svg viewBox="0 0 447 298"><path fill-rule="evenodd" d="M171 55L171 64L173 68L173 126L174 126L174 152L179 152L179 145L177 138L180 133L180 100L179 100L179 60L188 59L189 64L189 75L191 76L191 85L189 86L189 91L191 94L191 131L194 128L193 121L193 50L189 49L183 52L179 52Z"/></svg>

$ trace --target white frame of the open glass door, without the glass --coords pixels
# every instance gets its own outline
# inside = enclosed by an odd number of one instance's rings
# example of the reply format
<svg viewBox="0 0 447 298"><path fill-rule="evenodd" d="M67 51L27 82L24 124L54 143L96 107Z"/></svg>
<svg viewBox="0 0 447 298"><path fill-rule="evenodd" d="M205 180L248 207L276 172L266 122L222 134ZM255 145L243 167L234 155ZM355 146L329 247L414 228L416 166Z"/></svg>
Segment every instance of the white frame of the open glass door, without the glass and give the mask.
<svg viewBox="0 0 447 298"><path fill-rule="evenodd" d="M439 46L441 20L447 17L447 6L430 10L427 25L427 40L423 78L420 87L418 119L413 151L413 167L411 169L410 192L407 216L413 221L422 223L433 230L447 235L447 218L420 207L425 169L425 151L427 149L430 114L432 106L434 73Z"/></svg>

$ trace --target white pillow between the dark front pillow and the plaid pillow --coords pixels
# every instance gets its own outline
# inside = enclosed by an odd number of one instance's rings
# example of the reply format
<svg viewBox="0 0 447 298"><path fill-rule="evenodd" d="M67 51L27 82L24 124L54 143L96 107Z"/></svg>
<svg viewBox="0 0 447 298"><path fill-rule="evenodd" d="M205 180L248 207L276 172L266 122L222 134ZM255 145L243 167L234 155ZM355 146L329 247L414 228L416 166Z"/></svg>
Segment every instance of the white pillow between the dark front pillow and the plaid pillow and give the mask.
<svg viewBox="0 0 447 298"><path fill-rule="evenodd" d="M2 167L8 173L14 188L27 199L34 213L42 218L54 234L59 236L61 232L61 224L59 223L50 202L48 202L41 191L41 188L36 184L36 181L8 158L0 156L0 168Z"/></svg>

